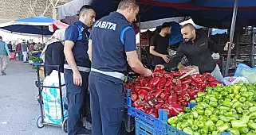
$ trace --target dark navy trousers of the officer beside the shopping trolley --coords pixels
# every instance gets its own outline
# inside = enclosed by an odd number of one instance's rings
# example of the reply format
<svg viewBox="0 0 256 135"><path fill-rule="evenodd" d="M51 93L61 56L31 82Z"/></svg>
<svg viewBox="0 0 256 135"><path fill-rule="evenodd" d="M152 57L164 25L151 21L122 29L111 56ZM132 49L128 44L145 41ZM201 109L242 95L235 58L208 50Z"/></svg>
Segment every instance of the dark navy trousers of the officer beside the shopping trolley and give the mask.
<svg viewBox="0 0 256 135"><path fill-rule="evenodd" d="M65 85L68 99L68 134L76 135L83 127L81 113L85 110L85 98L88 92L89 73L80 71L82 86L77 87L73 83L73 71L65 69Z"/></svg>

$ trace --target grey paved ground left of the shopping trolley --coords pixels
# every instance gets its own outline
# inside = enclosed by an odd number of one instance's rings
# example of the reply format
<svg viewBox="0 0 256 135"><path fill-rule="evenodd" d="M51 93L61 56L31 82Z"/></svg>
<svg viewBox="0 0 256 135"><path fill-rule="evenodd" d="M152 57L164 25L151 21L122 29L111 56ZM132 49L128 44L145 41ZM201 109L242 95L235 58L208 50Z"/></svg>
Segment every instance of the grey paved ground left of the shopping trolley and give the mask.
<svg viewBox="0 0 256 135"><path fill-rule="evenodd" d="M1 135L62 135L60 127L45 126L38 129L36 72L29 64L11 61L7 75L0 75L0 134Z"/></svg>

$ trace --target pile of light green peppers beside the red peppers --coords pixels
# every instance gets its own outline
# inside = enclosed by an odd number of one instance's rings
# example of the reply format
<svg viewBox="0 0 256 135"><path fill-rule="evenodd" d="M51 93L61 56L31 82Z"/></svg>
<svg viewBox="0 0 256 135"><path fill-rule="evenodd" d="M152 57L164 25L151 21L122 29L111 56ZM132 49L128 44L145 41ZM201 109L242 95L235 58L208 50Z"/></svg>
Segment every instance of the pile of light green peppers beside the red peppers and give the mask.
<svg viewBox="0 0 256 135"><path fill-rule="evenodd" d="M255 84L236 83L231 86L207 87L195 100L198 105L167 122L191 135L229 132L232 135L256 134Z"/></svg>

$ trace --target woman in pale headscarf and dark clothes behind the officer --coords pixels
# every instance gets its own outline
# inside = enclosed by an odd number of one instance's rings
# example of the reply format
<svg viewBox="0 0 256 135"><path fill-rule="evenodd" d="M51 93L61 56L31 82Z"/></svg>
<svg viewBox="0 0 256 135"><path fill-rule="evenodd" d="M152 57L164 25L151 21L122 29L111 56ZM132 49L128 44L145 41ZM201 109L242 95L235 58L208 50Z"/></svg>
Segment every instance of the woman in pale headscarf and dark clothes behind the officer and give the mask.
<svg viewBox="0 0 256 135"><path fill-rule="evenodd" d="M46 65L59 65L60 71L64 71L64 45L62 41L65 38L65 29L57 29L53 36L49 39L45 48L41 52L41 58L45 61ZM45 67L46 75L50 75L56 67Z"/></svg>

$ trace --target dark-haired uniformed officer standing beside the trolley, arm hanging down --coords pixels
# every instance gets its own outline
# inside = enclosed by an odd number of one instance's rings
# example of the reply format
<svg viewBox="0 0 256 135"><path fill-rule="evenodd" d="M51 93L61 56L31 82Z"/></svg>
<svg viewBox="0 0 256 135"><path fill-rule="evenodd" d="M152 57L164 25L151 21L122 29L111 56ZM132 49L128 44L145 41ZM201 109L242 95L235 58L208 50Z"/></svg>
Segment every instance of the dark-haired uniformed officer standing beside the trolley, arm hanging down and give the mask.
<svg viewBox="0 0 256 135"><path fill-rule="evenodd" d="M68 133L69 135L90 134L91 130L83 127L81 113L85 107L88 92L89 60L88 43L89 28L95 21L96 13L92 6L82 6L79 21L74 22L65 31L65 85L68 98Z"/></svg>

